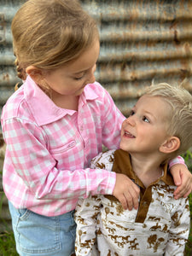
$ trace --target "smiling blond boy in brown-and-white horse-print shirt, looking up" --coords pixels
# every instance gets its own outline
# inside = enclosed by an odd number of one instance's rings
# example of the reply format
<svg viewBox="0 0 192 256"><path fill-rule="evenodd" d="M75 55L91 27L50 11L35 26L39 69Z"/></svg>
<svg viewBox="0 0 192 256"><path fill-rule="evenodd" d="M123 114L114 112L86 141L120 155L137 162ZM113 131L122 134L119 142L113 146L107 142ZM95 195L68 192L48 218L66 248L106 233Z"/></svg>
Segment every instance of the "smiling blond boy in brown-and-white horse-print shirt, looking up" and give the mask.
<svg viewBox="0 0 192 256"><path fill-rule="evenodd" d="M169 84L150 86L122 124L118 150L96 156L91 168L124 173L140 187L138 209L112 195L80 199L76 255L183 255L189 201L175 200L167 162L192 146L192 96Z"/></svg>

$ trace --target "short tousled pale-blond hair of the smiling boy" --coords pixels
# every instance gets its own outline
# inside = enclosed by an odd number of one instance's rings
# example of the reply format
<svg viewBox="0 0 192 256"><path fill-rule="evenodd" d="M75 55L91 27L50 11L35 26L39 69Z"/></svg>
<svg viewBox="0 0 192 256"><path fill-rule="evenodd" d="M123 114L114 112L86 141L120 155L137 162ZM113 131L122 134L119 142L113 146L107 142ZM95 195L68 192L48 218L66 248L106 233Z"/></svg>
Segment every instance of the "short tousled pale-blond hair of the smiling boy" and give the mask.
<svg viewBox="0 0 192 256"><path fill-rule="evenodd" d="M180 139L180 147L168 156L168 160L183 154L192 146L192 95L181 86L161 83L145 90L145 95L161 97L167 108L167 133Z"/></svg>

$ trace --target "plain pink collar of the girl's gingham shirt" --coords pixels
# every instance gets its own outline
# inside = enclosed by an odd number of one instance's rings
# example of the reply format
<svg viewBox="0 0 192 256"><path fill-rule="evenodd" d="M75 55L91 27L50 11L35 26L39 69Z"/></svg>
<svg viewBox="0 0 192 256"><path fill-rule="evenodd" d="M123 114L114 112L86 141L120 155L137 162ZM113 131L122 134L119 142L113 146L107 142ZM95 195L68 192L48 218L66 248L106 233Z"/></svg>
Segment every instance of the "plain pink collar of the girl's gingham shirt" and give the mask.
<svg viewBox="0 0 192 256"><path fill-rule="evenodd" d="M57 107L30 76L27 76L24 83L24 96L38 125L47 125L67 114L73 115L73 113L76 113L71 109ZM95 100L96 97L94 90L91 90L87 85L79 98L79 102L86 104L87 100Z"/></svg>

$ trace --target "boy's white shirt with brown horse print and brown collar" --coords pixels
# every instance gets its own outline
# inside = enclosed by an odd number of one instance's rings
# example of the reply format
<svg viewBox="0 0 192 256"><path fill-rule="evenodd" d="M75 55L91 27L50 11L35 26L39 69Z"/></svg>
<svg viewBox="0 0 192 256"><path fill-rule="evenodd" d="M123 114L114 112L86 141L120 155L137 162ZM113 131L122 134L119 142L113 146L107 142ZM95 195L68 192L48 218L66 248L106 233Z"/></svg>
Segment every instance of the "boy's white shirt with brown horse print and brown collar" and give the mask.
<svg viewBox="0 0 192 256"><path fill-rule="evenodd" d="M91 168L124 173L140 187L138 210L124 210L112 195L79 199L76 255L183 255L189 236L189 201L173 198L176 189L164 166L148 188L131 169L130 155L118 149L96 156Z"/></svg>

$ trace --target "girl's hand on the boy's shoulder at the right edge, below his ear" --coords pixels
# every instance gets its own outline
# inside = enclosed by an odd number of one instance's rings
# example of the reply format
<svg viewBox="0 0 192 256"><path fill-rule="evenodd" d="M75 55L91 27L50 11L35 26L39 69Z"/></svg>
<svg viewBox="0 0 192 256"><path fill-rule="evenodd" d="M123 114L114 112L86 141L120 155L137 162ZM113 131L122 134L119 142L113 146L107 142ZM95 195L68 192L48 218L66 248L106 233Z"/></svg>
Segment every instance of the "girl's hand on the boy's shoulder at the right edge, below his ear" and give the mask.
<svg viewBox="0 0 192 256"><path fill-rule="evenodd" d="M170 172L177 186L174 198L187 197L192 191L192 174L188 168L182 164L177 164L172 166Z"/></svg>

